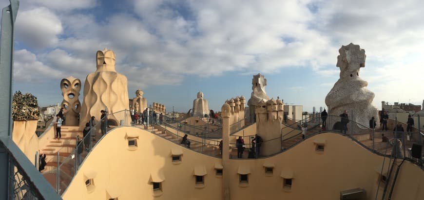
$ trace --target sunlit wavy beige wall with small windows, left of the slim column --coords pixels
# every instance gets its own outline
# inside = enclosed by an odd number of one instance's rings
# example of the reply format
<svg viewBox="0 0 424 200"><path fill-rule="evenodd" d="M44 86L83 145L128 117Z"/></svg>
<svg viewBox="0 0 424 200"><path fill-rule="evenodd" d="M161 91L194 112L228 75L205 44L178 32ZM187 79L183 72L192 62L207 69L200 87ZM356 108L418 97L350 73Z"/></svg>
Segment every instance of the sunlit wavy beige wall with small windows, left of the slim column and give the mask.
<svg viewBox="0 0 424 200"><path fill-rule="evenodd" d="M138 136L138 148L128 150L126 134ZM183 152L182 162L173 165L171 149ZM220 159L182 148L147 131L123 127L108 133L84 161L73 182L64 193L64 200L105 200L107 188L114 188L119 200L216 200L221 197L221 178L215 177L214 165ZM206 187L195 188L193 170L204 165ZM84 173L96 171L95 189L87 192ZM149 183L151 173L163 173L163 195L154 198Z"/></svg>

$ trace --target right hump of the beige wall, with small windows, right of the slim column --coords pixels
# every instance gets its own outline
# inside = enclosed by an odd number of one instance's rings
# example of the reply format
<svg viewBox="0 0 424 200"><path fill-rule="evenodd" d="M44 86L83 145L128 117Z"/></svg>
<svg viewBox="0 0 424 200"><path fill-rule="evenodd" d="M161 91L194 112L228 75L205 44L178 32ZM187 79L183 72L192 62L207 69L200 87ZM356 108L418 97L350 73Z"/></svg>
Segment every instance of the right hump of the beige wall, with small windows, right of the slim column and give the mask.
<svg viewBox="0 0 424 200"><path fill-rule="evenodd" d="M323 153L315 151L315 140L325 140ZM265 163L274 164L272 176L265 176ZM365 189L367 199L371 200L374 199L372 191L378 179L375 168L382 163L383 157L360 147L352 140L335 133L323 133L270 158L231 160L231 165L224 168L224 173L231 173L231 200L338 200L340 191L357 187ZM249 166L251 170L248 187L239 186L237 170L243 165ZM417 166L409 166L415 170L405 167L405 174L399 175L404 176L404 181L396 184L397 190L402 193L414 190L417 192L413 194L421 198L423 196L418 194L422 194L424 189L424 173ZM293 171L291 192L283 190L283 178L280 176L283 169ZM408 188L408 179L413 179L412 188Z"/></svg>

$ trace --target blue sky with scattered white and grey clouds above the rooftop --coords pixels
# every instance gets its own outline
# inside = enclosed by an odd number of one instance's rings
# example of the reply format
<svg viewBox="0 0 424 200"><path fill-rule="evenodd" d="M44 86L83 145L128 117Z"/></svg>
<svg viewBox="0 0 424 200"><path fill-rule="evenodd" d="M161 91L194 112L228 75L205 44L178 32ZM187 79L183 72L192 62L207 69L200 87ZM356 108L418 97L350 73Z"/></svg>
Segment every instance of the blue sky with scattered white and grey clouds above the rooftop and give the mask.
<svg viewBox="0 0 424 200"><path fill-rule="evenodd" d="M377 108L421 105L423 8L423 0L20 0L13 88L57 104L60 80L84 83L107 48L130 98L141 89L168 112L187 112L198 91L213 110L248 100L257 73L269 97L312 111L326 107L339 79L338 50L354 43L366 51L361 77Z"/></svg>

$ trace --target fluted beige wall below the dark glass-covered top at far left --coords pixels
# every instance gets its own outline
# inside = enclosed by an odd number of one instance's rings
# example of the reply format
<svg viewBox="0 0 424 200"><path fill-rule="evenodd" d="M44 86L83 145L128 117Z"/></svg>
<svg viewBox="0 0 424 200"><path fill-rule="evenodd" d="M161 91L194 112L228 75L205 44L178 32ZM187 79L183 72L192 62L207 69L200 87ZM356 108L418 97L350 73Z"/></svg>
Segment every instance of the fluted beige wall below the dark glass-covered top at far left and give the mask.
<svg viewBox="0 0 424 200"><path fill-rule="evenodd" d="M12 139L32 164L39 150L39 138L35 133L37 120L13 121Z"/></svg>

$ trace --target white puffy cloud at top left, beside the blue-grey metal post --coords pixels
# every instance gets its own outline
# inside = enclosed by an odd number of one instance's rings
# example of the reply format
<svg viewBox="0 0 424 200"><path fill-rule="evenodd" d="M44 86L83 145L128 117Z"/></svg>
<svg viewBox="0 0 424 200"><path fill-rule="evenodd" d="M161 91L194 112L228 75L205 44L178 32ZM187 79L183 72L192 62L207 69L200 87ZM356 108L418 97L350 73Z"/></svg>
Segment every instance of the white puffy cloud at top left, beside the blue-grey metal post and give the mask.
<svg viewBox="0 0 424 200"><path fill-rule="evenodd" d="M22 46L34 49L54 47L62 31L58 16L44 7L20 11L16 17L15 33Z"/></svg>

